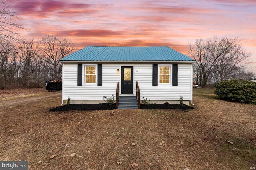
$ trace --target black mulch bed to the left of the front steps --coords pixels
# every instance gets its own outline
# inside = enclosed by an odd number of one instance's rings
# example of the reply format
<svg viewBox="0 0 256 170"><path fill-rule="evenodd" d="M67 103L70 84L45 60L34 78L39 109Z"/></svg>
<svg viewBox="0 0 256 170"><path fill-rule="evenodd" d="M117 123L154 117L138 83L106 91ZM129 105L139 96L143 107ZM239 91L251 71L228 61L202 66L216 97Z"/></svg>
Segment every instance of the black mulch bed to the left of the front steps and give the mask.
<svg viewBox="0 0 256 170"><path fill-rule="evenodd" d="M106 104L106 103L100 103L100 104L70 104L63 105L59 107L55 107L50 109L49 111L68 111L68 110L114 110L116 109L116 105L112 104Z"/></svg>

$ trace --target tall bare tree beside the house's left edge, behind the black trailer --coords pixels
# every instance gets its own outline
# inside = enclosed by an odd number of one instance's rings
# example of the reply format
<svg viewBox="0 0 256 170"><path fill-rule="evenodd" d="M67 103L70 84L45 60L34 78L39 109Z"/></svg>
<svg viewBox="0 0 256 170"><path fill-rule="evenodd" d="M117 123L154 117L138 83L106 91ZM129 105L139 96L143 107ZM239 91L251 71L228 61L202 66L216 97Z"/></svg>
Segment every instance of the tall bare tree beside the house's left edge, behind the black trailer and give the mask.
<svg viewBox="0 0 256 170"><path fill-rule="evenodd" d="M53 66L53 78L60 79L61 65L59 60L74 50L74 45L69 39L44 35L44 37L39 40L38 47L46 55L45 61Z"/></svg>

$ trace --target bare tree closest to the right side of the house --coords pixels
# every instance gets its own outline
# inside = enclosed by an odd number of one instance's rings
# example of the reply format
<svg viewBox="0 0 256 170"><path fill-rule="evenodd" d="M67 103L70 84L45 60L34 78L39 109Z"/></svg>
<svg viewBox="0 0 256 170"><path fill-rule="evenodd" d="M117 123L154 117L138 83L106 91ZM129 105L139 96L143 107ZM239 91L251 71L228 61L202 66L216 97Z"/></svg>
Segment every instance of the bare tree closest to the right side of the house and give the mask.
<svg viewBox="0 0 256 170"><path fill-rule="evenodd" d="M189 54L197 61L202 88L206 87L214 64L237 47L238 37L225 36L213 39L197 39L195 45L189 44Z"/></svg>

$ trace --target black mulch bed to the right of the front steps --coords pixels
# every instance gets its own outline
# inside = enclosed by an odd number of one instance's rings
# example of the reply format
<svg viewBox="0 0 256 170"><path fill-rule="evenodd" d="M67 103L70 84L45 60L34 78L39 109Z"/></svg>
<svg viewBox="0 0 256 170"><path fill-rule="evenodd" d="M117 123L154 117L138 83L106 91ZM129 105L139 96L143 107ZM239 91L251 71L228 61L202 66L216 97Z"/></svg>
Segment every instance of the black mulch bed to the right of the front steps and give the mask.
<svg viewBox="0 0 256 170"><path fill-rule="evenodd" d="M188 106L188 105L180 105L180 104L140 104L140 109L179 109L179 110L189 110L194 109L194 107Z"/></svg>

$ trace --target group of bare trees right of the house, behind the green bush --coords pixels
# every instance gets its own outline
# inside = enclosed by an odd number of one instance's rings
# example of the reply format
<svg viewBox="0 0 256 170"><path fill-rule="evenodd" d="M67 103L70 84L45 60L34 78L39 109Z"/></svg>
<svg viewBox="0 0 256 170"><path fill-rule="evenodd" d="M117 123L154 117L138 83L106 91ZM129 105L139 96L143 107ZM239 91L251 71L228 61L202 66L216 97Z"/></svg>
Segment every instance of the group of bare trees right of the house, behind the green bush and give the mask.
<svg viewBox="0 0 256 170"><path fill-rule="evenodd" d="M234 36L197 39L189 44L188 53L196 60L193 80L202 88L235 79L250 80L253 72L246 70L251 53L241 46L241 38Z"/></svg>

